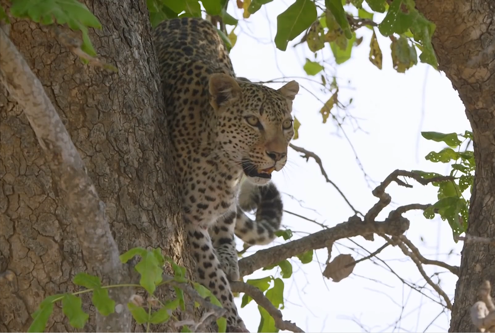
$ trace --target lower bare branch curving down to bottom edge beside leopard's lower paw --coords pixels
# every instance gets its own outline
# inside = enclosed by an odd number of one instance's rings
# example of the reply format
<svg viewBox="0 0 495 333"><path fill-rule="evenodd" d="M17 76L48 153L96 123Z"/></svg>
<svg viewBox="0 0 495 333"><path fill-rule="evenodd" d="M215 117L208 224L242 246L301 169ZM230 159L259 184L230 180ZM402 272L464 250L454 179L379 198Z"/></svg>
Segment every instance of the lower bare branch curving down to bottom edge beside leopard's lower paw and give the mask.
<svg viewBox="0 0 495 333"><path fill-rule="evenodd" d="M247 283L242 281L234 281L230 283L230 286L233 292L244 292L252 299L254 299L254 301L258 303L259 306L263 307L266 312L268 312L270 316L272 316L272 318L275 320L275 327L277 329L295 333L304 333L304 331L298 328L296 324L291 323L288 320L283 320L282 312L280 312L279 309L273 306L272 302L270 302L270 300L266 298L265 295L263 295L263 292L256 288L254 285L248 285Z"/></svg>

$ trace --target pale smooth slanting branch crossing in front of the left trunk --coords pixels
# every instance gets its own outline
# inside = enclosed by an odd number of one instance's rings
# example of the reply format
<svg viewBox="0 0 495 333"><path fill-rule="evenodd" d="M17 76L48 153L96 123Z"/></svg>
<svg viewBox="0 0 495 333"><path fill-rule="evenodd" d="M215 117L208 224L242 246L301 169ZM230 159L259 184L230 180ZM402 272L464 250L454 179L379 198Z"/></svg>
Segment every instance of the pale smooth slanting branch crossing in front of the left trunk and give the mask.
<svg viewBox="0 0 495 333"><path fill-rule="evenodd" d="M72 215L88 272L105 282L120 283L128 275L110 233L105 205L43 85L2 29L0 54L1 83L22 106L45 152L52 176L63 193L60 198L65 199ZM125 304L131 289L110 290L110 296L116 301L115 313L97 315L98 332L129 332L131 316Z"/></svg>

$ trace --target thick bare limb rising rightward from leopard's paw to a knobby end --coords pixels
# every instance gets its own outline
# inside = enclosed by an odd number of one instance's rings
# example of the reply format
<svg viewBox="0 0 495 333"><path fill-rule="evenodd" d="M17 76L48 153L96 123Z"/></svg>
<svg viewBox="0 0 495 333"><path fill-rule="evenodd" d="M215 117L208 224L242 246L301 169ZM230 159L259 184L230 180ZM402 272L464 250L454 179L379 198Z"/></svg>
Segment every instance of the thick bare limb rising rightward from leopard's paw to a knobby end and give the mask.
<svg viewBox="0 0 495 333"><path fill-rule="evenodd" d="M348 221L340 223L335 227L292 240L285 244L263 249L246 258L242 258L239 260L240 274L241 276L249 275L262 267L274 265L297 254L327 247L328 242L338 239L373 233L397 236L403 234L407 229L409 229L409 221L403 217L389 218L384 222L364 223L359 217L354 215Z"/></svg>

